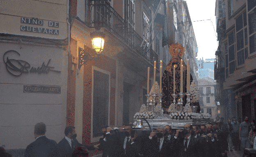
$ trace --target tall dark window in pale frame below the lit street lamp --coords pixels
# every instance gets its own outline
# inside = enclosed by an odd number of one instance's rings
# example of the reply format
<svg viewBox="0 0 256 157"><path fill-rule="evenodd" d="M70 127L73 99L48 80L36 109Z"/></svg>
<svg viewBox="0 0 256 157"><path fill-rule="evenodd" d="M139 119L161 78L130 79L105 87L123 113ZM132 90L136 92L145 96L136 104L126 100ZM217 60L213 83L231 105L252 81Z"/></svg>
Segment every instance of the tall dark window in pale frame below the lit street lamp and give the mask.
<svg viewBox="0 0 256 157"><path fill-rule="evenodd" d="M101 127L109 124L109 76L93 70L93 138L102 136Z"/></svg>

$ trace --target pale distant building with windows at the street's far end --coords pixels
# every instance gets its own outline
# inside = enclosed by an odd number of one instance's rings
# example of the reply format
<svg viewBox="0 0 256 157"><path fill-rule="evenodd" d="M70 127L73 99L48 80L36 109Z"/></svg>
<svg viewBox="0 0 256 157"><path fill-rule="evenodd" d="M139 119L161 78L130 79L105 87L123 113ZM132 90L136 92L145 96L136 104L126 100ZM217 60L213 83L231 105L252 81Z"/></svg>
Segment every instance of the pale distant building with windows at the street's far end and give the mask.
<svg viewBox="0 0 256 157"><path fill-rule="evenodd" d="M199 89L199 104L201 113L209 113L212 119L217 117L217 106L215 102L216 82L210 77L202 77L197 80Z"/></svg>

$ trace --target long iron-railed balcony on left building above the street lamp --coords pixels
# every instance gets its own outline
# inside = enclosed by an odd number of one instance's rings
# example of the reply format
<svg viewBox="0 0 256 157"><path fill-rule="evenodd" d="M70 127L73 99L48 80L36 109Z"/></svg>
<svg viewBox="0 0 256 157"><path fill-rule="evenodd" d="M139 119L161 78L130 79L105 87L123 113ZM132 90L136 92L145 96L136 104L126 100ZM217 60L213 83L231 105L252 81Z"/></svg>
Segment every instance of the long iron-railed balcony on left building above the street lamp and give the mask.
<svg viewBox="0 0 256 157"><path fill-rule="evenodd" d="M150 48L146 52L147 48L143 50L144 45L140 47L143 38L110 6L107 0L88 0L86 15L87 27L105 28L150 64L153 65L154 61L158 61L158 55L153 49ZM156 68L159 69L159 67L157 65Z"/></svg>

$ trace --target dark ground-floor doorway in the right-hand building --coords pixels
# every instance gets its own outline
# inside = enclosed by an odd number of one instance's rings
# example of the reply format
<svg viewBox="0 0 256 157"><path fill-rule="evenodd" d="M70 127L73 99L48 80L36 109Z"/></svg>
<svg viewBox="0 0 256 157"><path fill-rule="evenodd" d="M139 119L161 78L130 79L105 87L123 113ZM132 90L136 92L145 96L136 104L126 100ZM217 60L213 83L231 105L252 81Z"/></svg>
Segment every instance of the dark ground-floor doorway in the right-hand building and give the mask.
<svg viewBox="0 0 256 157"><path fill-rule="evenodd" d="M245 116L251 120L251 95L242 96L242 119Z"/></svg>

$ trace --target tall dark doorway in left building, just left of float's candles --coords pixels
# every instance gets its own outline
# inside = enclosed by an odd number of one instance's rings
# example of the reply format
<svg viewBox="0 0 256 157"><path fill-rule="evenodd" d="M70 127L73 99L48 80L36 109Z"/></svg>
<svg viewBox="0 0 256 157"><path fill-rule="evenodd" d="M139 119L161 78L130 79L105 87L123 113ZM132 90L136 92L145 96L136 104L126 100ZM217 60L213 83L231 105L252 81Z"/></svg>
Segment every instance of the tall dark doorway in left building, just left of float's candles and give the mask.
<svg viewBox="0 0 256 157"><path fill-rule="evenodd" d="M123 82L123 124L129 123L130 115L130 92L134 86L132 84Z"/></svg>

